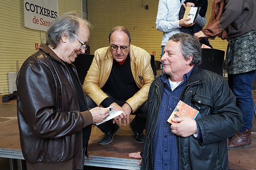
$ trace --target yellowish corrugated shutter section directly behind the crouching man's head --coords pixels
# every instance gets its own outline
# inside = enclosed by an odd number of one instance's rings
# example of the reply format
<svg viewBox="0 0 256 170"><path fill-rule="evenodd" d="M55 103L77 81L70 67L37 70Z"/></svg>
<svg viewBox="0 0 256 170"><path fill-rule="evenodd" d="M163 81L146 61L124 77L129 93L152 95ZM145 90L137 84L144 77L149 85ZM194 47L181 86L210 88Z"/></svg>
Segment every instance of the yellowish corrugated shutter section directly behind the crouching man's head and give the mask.
<svg viewBox="0 0 256 170"><path fill-rule="evenodd" d="M156 15L159 0L144 0L149 10L142 8L142 0L88 0L88 20L94 26L89 40L90 53L108 46L108 35L114 26L125 26L130 31L132 44L141 47L149 54L156 51L155 60L160 60L163 34L156 30ZM209 0L207 19L211 16ZM226 50L227 41L220 38L210 40L213 48Z"/></svg>

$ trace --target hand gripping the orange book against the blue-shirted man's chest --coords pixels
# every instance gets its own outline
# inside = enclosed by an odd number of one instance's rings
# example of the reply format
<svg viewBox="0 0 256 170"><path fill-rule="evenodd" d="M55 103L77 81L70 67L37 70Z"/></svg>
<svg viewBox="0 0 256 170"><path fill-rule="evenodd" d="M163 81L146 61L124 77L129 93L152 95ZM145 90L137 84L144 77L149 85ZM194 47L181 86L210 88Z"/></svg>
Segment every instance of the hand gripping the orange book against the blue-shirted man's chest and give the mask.
<svg viewBox="0 0 256 170"><path fill-rule="evenodd" d="M197 123L187 117L173 118L172 121L179 122L178 124L171 125L171 132L182 137L188 137L197 133Z"/></svg>

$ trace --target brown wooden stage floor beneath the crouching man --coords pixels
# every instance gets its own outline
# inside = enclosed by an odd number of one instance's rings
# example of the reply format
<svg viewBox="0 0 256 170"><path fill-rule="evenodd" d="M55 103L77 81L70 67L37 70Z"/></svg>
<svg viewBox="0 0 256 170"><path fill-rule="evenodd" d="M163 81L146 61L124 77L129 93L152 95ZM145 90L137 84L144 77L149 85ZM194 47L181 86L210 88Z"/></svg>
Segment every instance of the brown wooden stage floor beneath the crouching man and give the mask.
<svg viewBox="0 0 256 170"><path fill-rule="evenodd" d="M254 90L256 99L256 90ZM17 123L16 100L2 102L0 95L0 148L21 149L19 143L19 129ZM232 170L256 170L256 120L253 120L252 144L249 148L228 150L229 168ZM111 144L99 145L98 141L103 137L103 133L92 126L92 134L89 141L89 155L104 156L113 158L129 159L130 152L137 152L143 148L143 144L138 144L133 140L133 133L129 126L121 126L121 130L114 136ZM0 158L0 170L9 169L9 159ZM89 168L90 169L90 168ZM103 170L108 168L93 168Z"/></svg>

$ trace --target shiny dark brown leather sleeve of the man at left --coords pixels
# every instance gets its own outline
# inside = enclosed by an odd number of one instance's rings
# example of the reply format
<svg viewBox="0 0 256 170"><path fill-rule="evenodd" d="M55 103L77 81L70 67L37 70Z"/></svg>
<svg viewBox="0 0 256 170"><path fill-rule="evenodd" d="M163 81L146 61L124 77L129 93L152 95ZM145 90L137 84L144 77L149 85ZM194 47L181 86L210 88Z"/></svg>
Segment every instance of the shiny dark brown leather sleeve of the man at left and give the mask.
<svg viewBox="0 0 256 170"><path fill-rule="evenodd" d="M34 135L42 138L71 135L81 131L85 124L78 111L76 92L69 91L74 88L69 81L66 84L59 83L54 79L56 73L52 71L42 63L26 63L17 78L17 90L26 123ZM68 93L62 93L64 101L59 94L62 88Z"/></svg>

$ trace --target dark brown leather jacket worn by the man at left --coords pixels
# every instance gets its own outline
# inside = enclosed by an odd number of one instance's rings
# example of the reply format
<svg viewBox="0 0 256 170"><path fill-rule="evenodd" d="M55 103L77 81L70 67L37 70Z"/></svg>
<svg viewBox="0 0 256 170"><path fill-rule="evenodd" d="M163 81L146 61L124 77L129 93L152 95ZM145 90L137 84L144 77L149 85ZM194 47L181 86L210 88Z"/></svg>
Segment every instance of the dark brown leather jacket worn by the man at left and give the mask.
<svg viewBox="0 0 256 170"><path fill-rule="evenodd" d="M82 128L92 124L92 115L79 112L69 70L46 45L22 65L17 95L25 160L51 165L73 160L73 168L82 168Z"/></svg>

